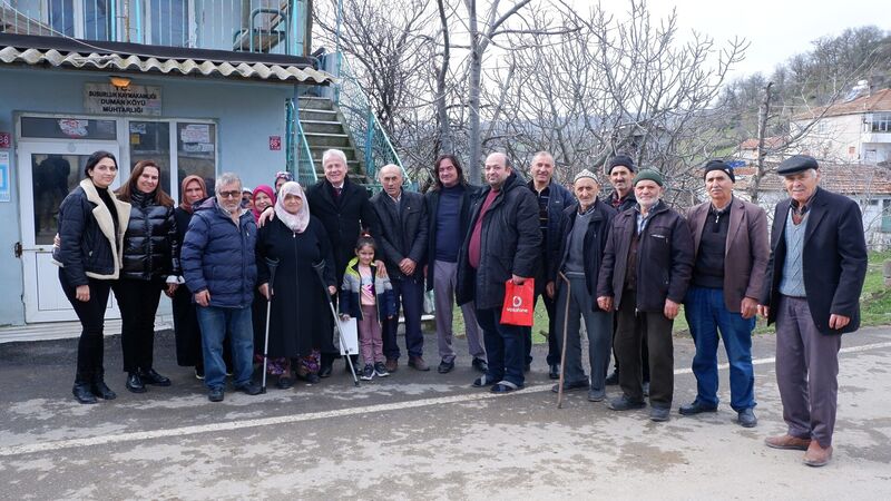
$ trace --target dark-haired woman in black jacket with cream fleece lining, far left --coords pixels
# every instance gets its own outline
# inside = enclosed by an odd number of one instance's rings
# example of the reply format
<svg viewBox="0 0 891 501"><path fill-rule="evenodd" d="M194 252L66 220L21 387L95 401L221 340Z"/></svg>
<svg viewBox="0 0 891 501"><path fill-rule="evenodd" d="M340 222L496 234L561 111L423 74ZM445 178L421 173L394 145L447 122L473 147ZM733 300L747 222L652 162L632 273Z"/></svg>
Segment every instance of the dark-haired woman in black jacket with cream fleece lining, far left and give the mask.
<svg viewBox="0 0 891 501"><path fill-rule="evenodd" d="M118 163L108 151L87 159L84 180L59 207L59 246L53 258L60 266L59 283L80 320L77 373L71 392L82 404L117 395L105 384L102 331L111 283L120 272L124 232L130 204L118 200L108 188Z"/></svg>

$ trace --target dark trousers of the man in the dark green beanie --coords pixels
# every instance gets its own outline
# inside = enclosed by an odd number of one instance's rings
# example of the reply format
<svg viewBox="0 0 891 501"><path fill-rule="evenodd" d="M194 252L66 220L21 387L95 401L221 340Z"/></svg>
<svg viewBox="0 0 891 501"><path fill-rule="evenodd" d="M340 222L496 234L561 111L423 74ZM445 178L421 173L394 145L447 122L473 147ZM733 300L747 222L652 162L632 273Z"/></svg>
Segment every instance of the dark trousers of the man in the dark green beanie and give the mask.
<svg viewBox="0 0 891 501"><path fill-rule="evenodd" d="M635 312L637 295L634 291L621 293L616 330L616 355L621 364L619 386L630 400L643 401L643 367L649 365L649 404L654 407L670 407L674 395L674 344L673 320L663 312ZM640 347L647 340L649 353L642 363Z"/></svg>

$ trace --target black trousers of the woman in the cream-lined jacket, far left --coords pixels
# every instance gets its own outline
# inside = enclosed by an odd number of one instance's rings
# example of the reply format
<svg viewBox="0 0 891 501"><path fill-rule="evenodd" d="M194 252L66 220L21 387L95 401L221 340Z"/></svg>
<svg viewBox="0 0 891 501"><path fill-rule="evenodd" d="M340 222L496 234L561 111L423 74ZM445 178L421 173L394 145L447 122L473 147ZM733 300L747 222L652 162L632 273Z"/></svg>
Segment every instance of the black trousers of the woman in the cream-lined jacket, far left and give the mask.
<svg viewBox="0 0 891 501"><path fill-rule="evenodd" d="M90 299L78 301L75 296L77 287L68 283L65 272L59 269L59 283L62 286L68 302L75 308L80 320L80 340L77 344L77 375L75 382L87 383L95 375L104 373L102 334L105 328L105 312L108 307L108 294L111 291L110 281L89 278Z"/></svg>

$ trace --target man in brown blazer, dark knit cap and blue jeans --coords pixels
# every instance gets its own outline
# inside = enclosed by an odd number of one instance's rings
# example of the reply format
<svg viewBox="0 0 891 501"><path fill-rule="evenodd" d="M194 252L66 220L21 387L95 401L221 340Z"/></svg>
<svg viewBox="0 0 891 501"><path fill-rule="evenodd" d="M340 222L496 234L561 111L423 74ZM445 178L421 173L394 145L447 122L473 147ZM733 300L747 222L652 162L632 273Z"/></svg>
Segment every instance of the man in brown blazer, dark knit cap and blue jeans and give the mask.
<svg viewBox="0 0 891 501"><path fill-rule="evenodd" d="M770 256L767 215L733 196L736 177L724 161L708 161L703 179L709 199L687 213L694 257L684 301L696 344L696 400L682 405L681 414L717 411L719 331L731 366L731 407L742 426L752 428L757 424L752 331Z"/></svg>

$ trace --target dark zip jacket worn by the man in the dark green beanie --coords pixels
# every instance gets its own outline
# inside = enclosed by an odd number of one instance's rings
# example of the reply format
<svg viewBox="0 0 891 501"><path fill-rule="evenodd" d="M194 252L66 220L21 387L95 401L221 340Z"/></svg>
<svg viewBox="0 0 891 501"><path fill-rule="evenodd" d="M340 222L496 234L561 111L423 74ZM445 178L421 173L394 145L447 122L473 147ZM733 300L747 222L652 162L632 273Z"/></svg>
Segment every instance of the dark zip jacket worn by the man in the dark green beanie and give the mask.
<svg viewBox="0 0 891 501"><path fill-rule="evenodd" d="M628 250L637 228L637 208L613 219L604 262L597 283L597 296L613 297L618 310L625 289ZM650 209L637 247L637 305L639 312L662 312L665 299L683 303L693 274L693 236L679 214L659 200Z"/></svg>

